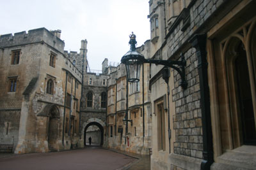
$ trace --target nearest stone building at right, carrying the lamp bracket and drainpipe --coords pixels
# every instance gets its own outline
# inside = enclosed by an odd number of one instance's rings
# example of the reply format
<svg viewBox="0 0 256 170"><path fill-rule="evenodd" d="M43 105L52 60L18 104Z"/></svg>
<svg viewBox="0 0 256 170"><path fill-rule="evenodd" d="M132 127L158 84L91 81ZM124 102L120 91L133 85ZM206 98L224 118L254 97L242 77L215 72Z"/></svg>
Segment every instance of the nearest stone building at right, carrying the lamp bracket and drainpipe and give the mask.
<svg viewBox="0 0 256 170"><path fill-rule="evenodd" d="M256 2L149 1L151 169L255 169ZM138 35L139 36L139 35ZM164 74L166 75L166 73ZM168 73L167 73L168 75Z"/></svg>

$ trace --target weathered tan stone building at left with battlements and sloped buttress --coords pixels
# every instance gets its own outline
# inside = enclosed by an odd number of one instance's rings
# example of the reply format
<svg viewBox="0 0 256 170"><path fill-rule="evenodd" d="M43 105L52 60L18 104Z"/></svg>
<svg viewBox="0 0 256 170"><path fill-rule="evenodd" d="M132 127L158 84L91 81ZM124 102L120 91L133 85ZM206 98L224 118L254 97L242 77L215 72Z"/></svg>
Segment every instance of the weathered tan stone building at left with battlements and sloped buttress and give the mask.
<svg viewBox="0 0 256 170"><path fill-rule="evenodd" d="M82 73L64 45L60 31L45 28L0 36L3 150L49 152L79 143Z"/></svg>

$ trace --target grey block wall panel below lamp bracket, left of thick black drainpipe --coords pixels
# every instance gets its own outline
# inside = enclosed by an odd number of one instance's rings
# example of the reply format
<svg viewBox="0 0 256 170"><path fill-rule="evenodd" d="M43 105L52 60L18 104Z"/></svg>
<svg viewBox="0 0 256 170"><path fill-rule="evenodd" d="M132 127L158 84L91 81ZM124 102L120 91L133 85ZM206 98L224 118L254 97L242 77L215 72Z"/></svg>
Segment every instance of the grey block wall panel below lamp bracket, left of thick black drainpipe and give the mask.
<svg viewBox="0 0 256 170"><path fill-rule="evenodd" d="M179 85L180 75L174 71L175 89L172 90L172 99L175 101L176 108L176 115L173 117L173 128L176 134L174 153L202 159L202 113L195 48L190 48L184 53L184 57L187 61L188 88L182 90Z"/></svg>

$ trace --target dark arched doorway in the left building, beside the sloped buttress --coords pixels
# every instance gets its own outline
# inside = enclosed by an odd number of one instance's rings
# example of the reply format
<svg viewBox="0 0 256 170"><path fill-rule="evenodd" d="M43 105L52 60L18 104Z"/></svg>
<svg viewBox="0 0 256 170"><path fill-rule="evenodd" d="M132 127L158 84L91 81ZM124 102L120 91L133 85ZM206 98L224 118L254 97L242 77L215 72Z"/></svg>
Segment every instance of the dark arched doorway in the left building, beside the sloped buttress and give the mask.
<svg viewBox="0 0 256 170"><path fill-rule="evenodd" d="M57 106L53 105L49 109L49 123L48 123L48 148L49 150L58 150L58 136L59 136L60 112Z"/></svg>

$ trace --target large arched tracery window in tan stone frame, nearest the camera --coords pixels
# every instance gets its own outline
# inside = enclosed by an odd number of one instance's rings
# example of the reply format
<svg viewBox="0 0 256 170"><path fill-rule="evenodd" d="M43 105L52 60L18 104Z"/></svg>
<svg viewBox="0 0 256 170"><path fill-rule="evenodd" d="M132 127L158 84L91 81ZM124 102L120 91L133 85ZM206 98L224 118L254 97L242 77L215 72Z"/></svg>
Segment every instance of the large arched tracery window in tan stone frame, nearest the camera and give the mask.
<svg viewBox="0 0 256 170"><path fill-rule="evenodd" d="M211 115L216 155L256 145L256 20L209 41ZM221 32L221 31L220 31ZM228 36L229 35L229 36ZM212 44L211 44L212 43ZM217 69L218 68L218 69ZM218 83L216 83L218 81ZM221 107L220 107L221 106ZM216 133L218 132L218 133Z"/></svg>

